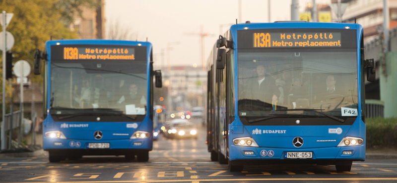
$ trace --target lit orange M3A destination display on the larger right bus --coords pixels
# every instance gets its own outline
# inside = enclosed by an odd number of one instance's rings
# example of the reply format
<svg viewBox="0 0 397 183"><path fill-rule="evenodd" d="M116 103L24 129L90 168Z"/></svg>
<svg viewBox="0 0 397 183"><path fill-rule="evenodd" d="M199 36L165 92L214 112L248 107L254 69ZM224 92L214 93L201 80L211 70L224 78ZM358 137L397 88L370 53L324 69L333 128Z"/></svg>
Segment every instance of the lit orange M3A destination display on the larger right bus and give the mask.
<svg viewBox="0 0 397 183"><path fill-rule="evenodd" d="M253 33L253 47L341 47L340 32L299 32L299 33Z"/></svg>

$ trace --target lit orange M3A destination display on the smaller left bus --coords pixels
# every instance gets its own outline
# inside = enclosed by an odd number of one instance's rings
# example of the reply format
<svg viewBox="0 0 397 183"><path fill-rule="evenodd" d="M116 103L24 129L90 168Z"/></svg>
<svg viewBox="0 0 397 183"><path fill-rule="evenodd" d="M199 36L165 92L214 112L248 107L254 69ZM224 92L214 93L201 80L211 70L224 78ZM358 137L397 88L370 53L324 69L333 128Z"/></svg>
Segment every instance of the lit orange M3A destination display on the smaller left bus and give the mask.
<svg viewBox="0 0 397 183"><path fill-rule="evenodd" d="M133 47L64 47L65 60L134 60Z"/></svg>

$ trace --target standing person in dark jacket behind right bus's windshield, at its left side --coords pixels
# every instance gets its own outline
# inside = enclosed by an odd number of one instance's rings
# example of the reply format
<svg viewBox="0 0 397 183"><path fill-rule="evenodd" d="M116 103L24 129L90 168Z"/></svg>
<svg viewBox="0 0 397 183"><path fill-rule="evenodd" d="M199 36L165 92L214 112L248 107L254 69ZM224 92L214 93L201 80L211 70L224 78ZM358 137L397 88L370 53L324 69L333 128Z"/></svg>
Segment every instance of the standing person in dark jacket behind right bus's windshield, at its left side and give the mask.
<svg viewBox="0 0 397 183"><path fill-rule="evenodd" d="M279 90L276 88L275 81L272 77L265 77L266 68L264 65L258 65L256 67L257 77L254 77L251 81L250 89L252 92L253 99L258 99L267 103L279 102Z"/></svg>

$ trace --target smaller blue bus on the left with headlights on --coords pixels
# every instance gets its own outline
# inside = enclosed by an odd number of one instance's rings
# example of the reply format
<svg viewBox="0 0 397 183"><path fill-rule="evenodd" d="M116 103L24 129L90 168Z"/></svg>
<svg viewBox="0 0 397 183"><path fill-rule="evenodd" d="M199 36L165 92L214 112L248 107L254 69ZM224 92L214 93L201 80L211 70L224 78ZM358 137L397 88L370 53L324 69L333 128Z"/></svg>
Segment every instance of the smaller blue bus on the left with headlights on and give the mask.
<svg viewBox="0 0 397 183"><path fill-rule="evenodd" d="M50 162L83 155L148 161L153 144L153 70L149 42L53 40L44 59L43 149Z"/></svg>

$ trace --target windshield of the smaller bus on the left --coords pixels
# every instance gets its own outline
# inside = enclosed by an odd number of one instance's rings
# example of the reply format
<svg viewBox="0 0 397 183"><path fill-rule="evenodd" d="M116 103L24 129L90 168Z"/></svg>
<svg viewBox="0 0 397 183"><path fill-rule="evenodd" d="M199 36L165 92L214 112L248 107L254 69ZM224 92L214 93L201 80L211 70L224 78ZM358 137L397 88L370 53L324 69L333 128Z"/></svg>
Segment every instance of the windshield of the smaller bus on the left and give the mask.
<svg viewBox="0 0 397 183"><path fill-rule="evenodd" d="M52 115L146 114L144 60L52 60L50 67Z"/></svg>

